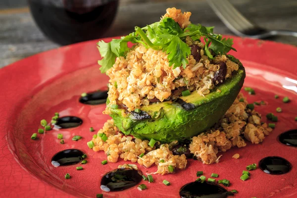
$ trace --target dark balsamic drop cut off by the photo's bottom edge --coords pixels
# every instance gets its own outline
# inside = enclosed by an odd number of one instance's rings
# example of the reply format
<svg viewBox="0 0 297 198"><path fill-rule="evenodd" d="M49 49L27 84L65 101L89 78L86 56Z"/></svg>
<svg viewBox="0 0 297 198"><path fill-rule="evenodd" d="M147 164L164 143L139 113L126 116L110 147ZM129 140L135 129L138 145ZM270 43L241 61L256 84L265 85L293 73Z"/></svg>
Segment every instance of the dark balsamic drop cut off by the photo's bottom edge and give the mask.
<svg viewBox="0 0 297 198"><path fill-rule="evenodd" d="M210 182L191 182L180 189L181 198L227 198L232 193L218 184Z"/></svg>

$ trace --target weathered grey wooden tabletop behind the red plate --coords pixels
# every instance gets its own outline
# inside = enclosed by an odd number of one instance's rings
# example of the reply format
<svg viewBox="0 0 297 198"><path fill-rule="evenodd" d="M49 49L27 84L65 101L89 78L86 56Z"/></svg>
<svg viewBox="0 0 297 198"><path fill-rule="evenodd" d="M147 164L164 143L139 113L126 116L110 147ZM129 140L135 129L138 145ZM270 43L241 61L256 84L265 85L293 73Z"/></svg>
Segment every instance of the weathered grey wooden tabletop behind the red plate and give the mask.
<svg viewBox="0 0 297 198"><path fill-rule="evenodd" d="M0 67L59 45L38 29L28 7L5 0L0 3ZM248 19L267 29L297 31L297 0L230 0ZM9 2L9 3L8 3ZM14 7L13 7L14 6ZM21 6L21 7L20 7ZM134 26L146 26L160 19L166 8L191 11L192 23L215 26L215 32L232 33L214 14L206 0L120 0L117 16L104 37L126 35ZM280 36L273 41L297 45L296 37Z"/></svg>

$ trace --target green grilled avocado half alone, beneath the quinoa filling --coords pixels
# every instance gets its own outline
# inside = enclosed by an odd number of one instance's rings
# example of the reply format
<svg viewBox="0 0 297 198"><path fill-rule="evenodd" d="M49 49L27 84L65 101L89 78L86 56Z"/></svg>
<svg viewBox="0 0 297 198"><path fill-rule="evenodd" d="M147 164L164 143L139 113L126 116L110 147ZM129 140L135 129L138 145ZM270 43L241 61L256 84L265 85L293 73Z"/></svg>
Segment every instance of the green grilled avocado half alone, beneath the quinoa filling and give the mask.
<svg viewBox="0 0 297 198"><path fill-rule="evenodd" d="M163 143L182 141L209 129L224 115L239 94L245 77L245 69L240 67L236 74L216 87L221 92L213 90L205 97L193 92L190 96L180 97L178 102L143 106L141 110L146 111L150 118L135 119L133 113L125 109L110 109L110 116L125 135L153 138Z"/></svg>

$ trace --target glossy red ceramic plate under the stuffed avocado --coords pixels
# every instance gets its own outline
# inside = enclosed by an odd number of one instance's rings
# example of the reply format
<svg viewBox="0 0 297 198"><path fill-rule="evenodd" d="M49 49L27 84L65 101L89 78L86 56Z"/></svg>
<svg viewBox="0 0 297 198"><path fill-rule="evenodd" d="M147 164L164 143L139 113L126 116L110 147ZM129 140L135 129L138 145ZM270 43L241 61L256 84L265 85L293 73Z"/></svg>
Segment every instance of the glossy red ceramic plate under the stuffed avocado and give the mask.
<svg viewBox="0 0 297 198"><path fill-rule="evenodd" d="M111 39L104 39L109 42ZM100 58L97 41L80 43L53 49L18 61L0 69L0 197L90 197L95 198L100 190L102 175L119 164L101 165L106 159L103 152L89 149L87 142L94 132L92 126L99 130L109 118L102 115L104 104L90 106L78 102L83 92L106 88L108 78L99 72L97 60ZM283 109L276 113L279 121L272 134L259 145L247 144L245 148L233 148L221 153L220 163L204 165L199 161L189 160L184 171L165 176L154 176L154 183L148 189L138 191L136 187L122 192L104 193L108 198L177 198L179 189L186 183L194 181L196 171L219 174L219 178L231 181L228 190L236 189L238 198L289 198L297 197L297 148L282 145L277 137L282 132L297 128L297 48L289 45L267 41L242 39L234 37L232 52L246 67L246 87L254 88L256 95L247 96L249 102L265 100L267 105L256 106L267 122L265 115L275 112L276 107ZM244 92L244 91L243 91ZM274 99L278 94L279 99ZM283 103L288 96L292 101ZM38 134L37 140L31 140L33 133L40 127L40 120L50 120L54 112L60 116L74 115L83 119L80 127L51 130ZM57 133L62 133L65 144L59 144ZM83 138L77 142L72 136ZM77 171L77 165L53 167L51 157L58 151L78 148L88 155L84 170ZM232 156L240 153L240 159ZM266 156L281 156L293 165L292 170L284 175L269 175L256 169L250 179L240 180L246 165L258 163ZM144 173L154 172L140 167ZM72 178L64 179L65 173ZM164 186L162 181L171 182Z"/></svg>

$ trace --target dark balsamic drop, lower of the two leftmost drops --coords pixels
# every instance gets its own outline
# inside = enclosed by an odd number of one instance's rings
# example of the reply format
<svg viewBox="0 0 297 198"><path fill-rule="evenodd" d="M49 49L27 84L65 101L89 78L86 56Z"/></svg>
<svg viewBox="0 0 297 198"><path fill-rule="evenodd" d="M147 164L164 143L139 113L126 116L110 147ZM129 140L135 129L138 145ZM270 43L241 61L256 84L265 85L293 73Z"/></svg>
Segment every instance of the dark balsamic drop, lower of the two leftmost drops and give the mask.
<svg viewBox="0 0 297 198"><path fill-rule="evenodd" d="M78 149L62 150L51 158L51 164L55 167L68 166L79 163L83 158L83 151Z"/></svg>

